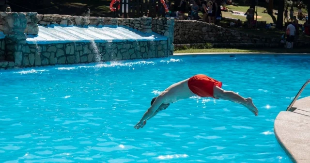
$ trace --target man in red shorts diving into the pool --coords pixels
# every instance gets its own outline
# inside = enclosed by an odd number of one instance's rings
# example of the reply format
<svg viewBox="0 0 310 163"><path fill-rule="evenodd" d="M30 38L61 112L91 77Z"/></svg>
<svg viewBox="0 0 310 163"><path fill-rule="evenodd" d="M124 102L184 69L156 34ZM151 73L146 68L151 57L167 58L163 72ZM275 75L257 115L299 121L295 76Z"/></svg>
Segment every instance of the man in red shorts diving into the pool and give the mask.
<svg viewBox="0 0 310 163"><path fill-rule="evenodd" d="M243 98L233 91L225 91L221 88L222 83L206 75L195 75L184 81L179 81L165 89L159 96L152 99L151 107L145 112L136 124L135 129L143 128L146 121L155 116L159 111L165 110L170 103L190 98L192 96L211 97L230 100L240 103L248 108L253 114L258 115L258 110L251 98Z"/></svg>

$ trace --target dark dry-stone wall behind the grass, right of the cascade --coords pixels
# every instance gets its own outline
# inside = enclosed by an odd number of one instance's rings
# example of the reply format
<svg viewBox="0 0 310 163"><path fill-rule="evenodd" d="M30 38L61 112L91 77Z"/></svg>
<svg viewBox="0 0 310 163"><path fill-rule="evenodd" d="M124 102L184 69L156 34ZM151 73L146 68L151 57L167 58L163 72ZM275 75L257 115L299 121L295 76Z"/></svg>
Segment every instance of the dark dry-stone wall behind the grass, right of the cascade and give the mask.
<svg viewBox="0 0 310 163"><path fill-rule="evenodd" d="M201 21L175 20L174 44L196 43L274 44L279 38L250 35Z"/></svg>

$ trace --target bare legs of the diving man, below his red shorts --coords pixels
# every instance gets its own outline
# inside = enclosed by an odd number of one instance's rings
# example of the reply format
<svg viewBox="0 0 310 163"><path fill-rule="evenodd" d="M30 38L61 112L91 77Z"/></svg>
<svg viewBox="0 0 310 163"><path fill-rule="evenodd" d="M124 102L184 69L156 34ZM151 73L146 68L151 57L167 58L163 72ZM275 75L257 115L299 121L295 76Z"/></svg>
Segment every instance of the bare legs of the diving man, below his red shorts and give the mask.
<svg viewBox="0 0 310 163"><path fill-rule="evenodd" d="M252 102L252 98L243 98L233 91L225 91L218 86L213 87L213 96L215 98L225 99L232 102L240 103L248 108L253 114L258 115L258 110Z"/></svg>

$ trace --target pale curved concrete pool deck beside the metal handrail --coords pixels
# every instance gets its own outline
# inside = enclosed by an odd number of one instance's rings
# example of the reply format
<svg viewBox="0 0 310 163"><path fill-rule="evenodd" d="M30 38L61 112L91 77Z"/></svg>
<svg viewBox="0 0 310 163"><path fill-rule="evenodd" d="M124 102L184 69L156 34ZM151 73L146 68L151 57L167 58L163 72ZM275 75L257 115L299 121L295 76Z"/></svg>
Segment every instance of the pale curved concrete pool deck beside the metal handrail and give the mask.
<svg viewBox="0 0 310 163"><path fill-rule="evenodd" d="M274 131L294 163L310 163L310 97L296 100L291 112L280 112Z"/></svg>

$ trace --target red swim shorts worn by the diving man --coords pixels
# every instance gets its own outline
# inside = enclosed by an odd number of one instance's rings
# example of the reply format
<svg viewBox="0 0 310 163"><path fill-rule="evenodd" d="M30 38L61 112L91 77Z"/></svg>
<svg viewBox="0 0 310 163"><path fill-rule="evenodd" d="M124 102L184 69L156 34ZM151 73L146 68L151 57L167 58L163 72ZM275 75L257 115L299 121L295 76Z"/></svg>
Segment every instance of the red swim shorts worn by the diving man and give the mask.
<svg viewBox="0 0 310 163"><path fill-rule="evenodd" d="M213 96L213 87L216 85L221 88L222 82L206 75L198 74L189 78L187 85L188 88L197 96L215 98Z"/></svg>

